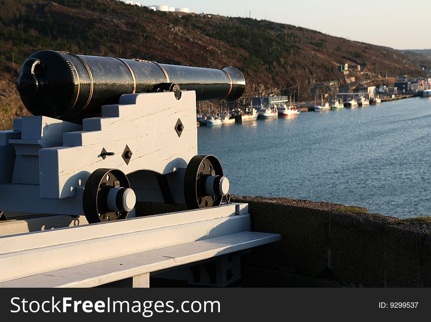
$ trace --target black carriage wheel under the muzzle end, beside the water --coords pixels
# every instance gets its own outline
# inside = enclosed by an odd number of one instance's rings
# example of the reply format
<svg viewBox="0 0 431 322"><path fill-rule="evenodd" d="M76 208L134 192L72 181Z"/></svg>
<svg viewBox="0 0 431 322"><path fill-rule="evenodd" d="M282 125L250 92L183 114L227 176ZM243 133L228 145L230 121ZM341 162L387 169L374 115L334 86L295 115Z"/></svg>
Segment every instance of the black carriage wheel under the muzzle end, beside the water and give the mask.
<svg viewBox="0 0 431 322"><path fill-rule="evenodd" d="M223 168L214 155L198 154L187 165L184 178L184 198L189 209L219 206L222 196L210 196L205 184L209 177L223 177ZM214 181L214 180L213 180Z"/></svg>

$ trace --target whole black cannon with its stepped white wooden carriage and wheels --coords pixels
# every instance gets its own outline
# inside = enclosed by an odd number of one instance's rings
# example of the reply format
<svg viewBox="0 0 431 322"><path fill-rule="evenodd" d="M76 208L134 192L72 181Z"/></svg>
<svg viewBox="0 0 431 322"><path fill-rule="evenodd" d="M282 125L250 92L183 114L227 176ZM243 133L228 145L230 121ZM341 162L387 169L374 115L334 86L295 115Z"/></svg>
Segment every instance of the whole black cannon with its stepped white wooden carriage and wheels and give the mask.
<svg viewBox="0 0 431 322"><path fill-rule="evenodd" d="M42 50L17 87L33 116L0 131L7 213L132 216L137 201L188 209L228 200L214 155L197 153L196 100L238 99L244 76L141 59Z"/></svg>

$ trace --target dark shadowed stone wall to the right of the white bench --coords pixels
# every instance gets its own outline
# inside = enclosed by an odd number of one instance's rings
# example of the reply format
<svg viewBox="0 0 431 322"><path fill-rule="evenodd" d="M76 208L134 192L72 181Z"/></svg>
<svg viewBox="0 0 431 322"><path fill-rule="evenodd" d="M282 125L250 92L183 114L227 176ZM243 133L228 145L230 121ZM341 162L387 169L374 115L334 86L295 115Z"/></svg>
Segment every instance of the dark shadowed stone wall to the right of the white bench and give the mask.
<svg viewBox="0 0 431 322"><path fill-rule="evenodd" d="M253 231L281 234L243 256L243 286L431 287L431 217L287 198L232 201L249 204Z"/></svg>

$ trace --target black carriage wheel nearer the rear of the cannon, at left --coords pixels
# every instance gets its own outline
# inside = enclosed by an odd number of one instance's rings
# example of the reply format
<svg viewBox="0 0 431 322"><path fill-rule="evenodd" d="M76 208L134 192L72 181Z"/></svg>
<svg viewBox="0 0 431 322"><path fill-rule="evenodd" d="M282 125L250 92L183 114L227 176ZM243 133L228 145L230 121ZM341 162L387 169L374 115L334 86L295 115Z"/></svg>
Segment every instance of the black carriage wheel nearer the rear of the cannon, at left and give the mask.
<svg viewBox="0 0 431 322"><path fill-rule="evenodd" d="M126 194L132 193L136 201L133 190L128 188L130 183L127 176L118 169L97 169L93 172L85 183L82 200L87 221L100 223L125 219L131 209L127 211L121 205L122 200L127 198ZM108 202L108 194L111 190L115 193L114 198L111 198L114 199L114 206L109 206ZM115 205L116 201L118 206ZM133 206L135 201L132 201Z"/></svg>

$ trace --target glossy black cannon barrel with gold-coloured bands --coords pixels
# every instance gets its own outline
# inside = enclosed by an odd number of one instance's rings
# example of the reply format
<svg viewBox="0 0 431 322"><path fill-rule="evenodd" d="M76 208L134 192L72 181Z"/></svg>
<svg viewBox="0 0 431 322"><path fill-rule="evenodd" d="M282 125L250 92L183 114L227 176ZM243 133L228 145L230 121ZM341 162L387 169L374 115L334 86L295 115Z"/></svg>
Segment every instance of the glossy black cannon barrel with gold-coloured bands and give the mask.
<svg viewBox="0 0 431 322"><path fill-rule="evenodd" d="M235 100L245 89L244 76L234 67L219 70L54 50L27 58L17 83L33 115L62 120L95 116L102 105L118 103L123 94L154 92L163 84L194 90L196 100Z"/></svg>

